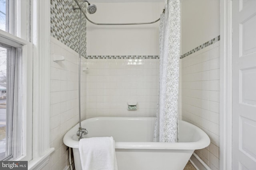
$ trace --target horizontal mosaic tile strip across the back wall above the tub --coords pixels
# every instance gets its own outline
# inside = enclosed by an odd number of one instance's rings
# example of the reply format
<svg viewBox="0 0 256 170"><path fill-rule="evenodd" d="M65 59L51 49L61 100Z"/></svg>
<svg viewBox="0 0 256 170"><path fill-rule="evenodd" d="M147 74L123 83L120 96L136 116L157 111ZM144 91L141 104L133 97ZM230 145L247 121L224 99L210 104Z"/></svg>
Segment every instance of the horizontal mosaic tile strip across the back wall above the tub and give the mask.
<svg viewBox="0 0 256 170"><path fill-rule="evenodd" d="M87 55L86 59L159 59L158 55Z"/></svg>

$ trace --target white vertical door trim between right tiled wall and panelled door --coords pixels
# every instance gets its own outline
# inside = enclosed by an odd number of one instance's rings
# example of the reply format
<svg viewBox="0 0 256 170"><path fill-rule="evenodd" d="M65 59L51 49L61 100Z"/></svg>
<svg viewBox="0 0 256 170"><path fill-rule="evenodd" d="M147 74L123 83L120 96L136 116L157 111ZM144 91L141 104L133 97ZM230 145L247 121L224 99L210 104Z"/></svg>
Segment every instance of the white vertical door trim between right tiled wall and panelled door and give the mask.
<svg viewBox="0 0 256 170"><path fill-rule="evenodd" d="M232 169L232 0L220 1L220 170Z"/></svg>

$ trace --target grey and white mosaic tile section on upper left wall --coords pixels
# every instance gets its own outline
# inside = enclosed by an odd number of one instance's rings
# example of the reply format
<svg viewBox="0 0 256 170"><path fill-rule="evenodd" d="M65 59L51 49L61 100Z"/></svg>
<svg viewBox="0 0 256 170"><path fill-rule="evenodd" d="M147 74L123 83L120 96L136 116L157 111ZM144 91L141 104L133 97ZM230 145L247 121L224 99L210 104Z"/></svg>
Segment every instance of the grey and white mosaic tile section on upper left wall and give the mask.
<svg viewBox="0 0 256 170"><path fill-rule="evenodd" d="M82 0L77 0L78 3ZM51 6L51 36L79 53L80 10L74 0L50 0ZM83 4L85 6L85 3ZM86 9L86 7L84 7ZM86 18L82 15L82 56L86 56Z"/></svg>

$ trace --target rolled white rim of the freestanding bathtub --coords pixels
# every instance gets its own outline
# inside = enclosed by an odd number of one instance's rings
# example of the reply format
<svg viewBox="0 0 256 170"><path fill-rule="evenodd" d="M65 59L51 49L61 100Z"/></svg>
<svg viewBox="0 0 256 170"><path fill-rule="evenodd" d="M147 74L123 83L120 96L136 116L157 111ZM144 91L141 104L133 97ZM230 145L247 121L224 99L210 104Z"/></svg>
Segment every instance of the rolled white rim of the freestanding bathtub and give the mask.
<svg viewBox="0 0 256 170"><path fill-rule="evenodd" d="M152 117L93 117L89 119L85 119L83 121L97 121L97 120L107 120L107 119L147 119ZM82 121L82 122L83 122ZM188 123L183 120L179 120L179 122L185 123L191 128L194 128L200 139L195 142L178 142L178 143L164 143L164 142L115 142L115 149L176 149L176 150L197 150L203 149L210 145L210 138L208 135L199 127ZM76 131L79 127L79 124L72 127L63 138L63 142L66 146L71 148L78 149L79 142L72 139L73 135L76 134ZM71 139L71 140L70 140Z"/></svg>

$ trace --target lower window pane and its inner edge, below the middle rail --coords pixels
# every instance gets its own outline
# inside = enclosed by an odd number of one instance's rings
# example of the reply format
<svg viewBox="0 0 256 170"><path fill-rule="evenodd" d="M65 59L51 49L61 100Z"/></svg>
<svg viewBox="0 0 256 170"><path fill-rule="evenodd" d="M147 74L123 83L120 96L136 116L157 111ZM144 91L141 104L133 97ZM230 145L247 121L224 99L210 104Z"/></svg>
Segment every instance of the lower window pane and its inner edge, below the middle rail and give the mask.
<svg viewBox="0 0 256 170"><path fill-rule="evenodd" d="M21 155L22 146L22 124L18 121L22 46L12 41L8 43L0 43L0 160L16 159Z"/></svg>

